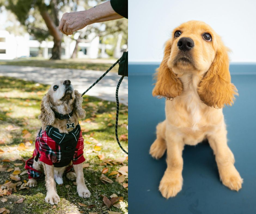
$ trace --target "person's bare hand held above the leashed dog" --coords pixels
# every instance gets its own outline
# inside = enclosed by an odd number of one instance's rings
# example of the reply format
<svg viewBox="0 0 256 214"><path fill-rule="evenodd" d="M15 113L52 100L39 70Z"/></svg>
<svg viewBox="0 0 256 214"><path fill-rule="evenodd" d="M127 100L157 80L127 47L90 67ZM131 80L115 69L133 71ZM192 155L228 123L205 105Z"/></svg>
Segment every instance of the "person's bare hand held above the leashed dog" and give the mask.
<svg viewBox="0 0 256 214"><path fill-rule="evenodd" d="M87 26L87 19L86 11L64 13L60 20L59 30L66 35L72 35L73 32Z"/></svg>

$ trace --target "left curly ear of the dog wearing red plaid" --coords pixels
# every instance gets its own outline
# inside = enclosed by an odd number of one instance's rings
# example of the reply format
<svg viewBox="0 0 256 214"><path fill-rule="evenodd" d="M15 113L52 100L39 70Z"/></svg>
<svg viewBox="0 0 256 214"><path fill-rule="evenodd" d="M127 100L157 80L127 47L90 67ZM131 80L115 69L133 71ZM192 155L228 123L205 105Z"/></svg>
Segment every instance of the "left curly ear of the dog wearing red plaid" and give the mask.
<svg viewBox="0 0 256 214"><path fill-rule="evenodd" d="M42 122L43 125L52 125L55 120L55 115L51 103L51 96L49 92L44 95L42 102L41 102L41 114L38 116L38 119Z"/></svg>

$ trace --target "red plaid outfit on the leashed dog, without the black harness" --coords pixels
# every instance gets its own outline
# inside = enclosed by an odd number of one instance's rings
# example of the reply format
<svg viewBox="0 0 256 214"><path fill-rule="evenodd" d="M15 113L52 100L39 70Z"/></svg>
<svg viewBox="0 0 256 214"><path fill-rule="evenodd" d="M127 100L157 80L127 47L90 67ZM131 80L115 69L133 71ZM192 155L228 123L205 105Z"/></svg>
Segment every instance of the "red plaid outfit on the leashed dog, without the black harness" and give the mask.
<svg viewBox="0 0 256 214"><path fill-rule="evenodd" d="M82 131L80 131L79 139L77 141L77 146L75 148L75 153L73 157L73 164L83 163L85 161L83 156L84 149L84 139ZM33 159L39 152L39 160L48 164L53 165L53 163L58 163L61 160L61 150L60 146L51 139L46 131L41 131L38 133L35 141L35 150L33 152L32 158L26 161L25 169L28 170L29 178L38 178L41 176L42 172L33 169ZM73 166L68 166L65 172L73 171Z"/></svg>

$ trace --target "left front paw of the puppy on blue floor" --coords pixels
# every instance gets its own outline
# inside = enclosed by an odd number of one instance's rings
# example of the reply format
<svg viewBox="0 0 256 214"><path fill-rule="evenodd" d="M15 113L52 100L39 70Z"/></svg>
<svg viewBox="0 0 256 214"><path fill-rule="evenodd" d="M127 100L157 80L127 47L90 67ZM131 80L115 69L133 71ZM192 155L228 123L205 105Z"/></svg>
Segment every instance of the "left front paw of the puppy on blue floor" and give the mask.
<svg viewBox="0 0 256 214"><path fill-rule="evenodd" d="M183 178L180 173L165 172L159 185L159 191L165 198L174 197L181 191Z"/></svg>

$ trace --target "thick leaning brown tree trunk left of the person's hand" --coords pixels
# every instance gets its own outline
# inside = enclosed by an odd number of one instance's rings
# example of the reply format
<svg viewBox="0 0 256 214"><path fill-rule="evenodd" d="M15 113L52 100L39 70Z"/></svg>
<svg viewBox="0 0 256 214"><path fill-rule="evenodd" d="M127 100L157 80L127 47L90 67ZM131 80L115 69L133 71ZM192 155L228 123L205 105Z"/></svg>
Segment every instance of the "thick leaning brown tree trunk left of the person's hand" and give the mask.
<svg viewBox="0 0 256 214"><path fill-rule="evenodd" d="M45 21L45 24L46 24L51 36L53 36L54 45L53 45L53 49L51 52L52 56L50 59L60 59L62 33L59 31L58 26L56 26L54 21L51 19L44 3L39 5L39 11L40 11L42 18Z"/></svg>

